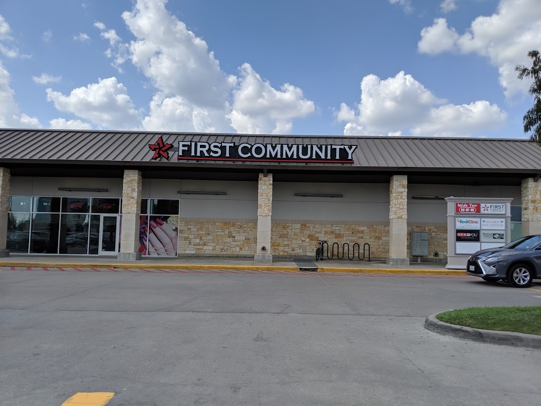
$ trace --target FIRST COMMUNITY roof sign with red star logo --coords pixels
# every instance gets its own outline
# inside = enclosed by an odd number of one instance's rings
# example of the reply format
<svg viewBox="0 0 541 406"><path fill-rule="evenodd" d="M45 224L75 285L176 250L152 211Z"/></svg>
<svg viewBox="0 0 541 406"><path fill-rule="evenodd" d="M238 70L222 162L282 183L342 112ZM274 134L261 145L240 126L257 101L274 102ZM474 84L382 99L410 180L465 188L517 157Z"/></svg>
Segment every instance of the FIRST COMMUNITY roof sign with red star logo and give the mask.
<svg viewBox="0 0 541 406"><path fill-rule="evenodd" d="M151 159L169 159L173 144L160 136L148 146L154 151ZM179 141L177 159L212 161L262 162L329 162L353 163L356 145L249 144L246 142Z"/></svg>

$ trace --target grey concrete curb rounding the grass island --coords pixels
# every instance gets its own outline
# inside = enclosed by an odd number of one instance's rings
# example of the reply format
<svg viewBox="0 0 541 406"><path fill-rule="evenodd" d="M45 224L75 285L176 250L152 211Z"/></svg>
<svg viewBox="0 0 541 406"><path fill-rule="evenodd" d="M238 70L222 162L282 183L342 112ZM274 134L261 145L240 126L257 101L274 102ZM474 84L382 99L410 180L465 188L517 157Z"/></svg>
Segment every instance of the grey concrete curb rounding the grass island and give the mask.
<svg viewBox="0 0 541 406"><path fill-rule="evenodd" d="M512 331L472 329L470 327L441 322L436 318L438 314L434 313L426 318L424 324L426 330L480 343L541 349L541 336Z"/></svg>

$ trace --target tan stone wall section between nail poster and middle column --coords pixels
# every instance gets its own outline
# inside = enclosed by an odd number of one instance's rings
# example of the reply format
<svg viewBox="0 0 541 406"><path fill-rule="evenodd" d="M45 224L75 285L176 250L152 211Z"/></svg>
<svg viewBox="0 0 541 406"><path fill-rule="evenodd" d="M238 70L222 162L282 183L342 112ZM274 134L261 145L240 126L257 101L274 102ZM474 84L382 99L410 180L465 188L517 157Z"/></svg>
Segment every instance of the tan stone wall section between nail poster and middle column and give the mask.
<svg viewBox="0 0 541 406"><path fill-rule="evenodd" d="M179 219L179 256L253 256L258 231L251 219Z"/></svg>

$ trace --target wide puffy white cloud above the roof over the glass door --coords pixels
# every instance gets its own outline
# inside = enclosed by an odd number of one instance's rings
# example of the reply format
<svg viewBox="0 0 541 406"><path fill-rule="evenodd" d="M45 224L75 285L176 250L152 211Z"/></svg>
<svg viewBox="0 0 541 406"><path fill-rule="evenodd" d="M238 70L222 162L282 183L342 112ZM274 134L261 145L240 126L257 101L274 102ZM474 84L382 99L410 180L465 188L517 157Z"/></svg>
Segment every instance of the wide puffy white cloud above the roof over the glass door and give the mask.
<svg viewBox="0 0 541 406"><path fill-rule="evenodd" d="M98 83L71 90L69 96L49 88L47 100L61 112L75 114L101 128L134 129L140 123L128 90L116 77L100 78Z"/></svg>

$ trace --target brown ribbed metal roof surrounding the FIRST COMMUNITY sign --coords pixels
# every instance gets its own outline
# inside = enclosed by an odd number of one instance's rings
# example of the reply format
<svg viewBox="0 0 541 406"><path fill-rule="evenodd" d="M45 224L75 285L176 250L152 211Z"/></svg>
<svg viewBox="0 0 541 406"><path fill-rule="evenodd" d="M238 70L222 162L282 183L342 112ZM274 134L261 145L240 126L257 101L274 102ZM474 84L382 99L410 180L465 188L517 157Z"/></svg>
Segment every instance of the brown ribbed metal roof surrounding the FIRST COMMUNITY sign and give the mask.
<svg viewBox="0 0 541 406"><path fill-rule="evenodd" d="M353 164L151 160L148 145L178 141L357 145ZM175 150L175 149L171 149ZM174 155L174 154L173 154ZM541 173L541 148L527 140L345 137L0 129L0 163L102 163L152 166L346 167L389 171Z"/></svg>

